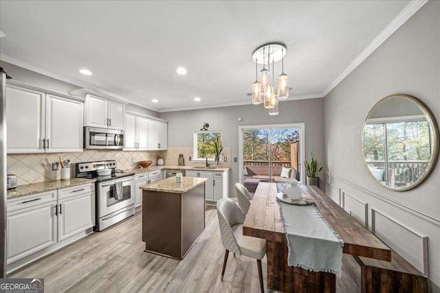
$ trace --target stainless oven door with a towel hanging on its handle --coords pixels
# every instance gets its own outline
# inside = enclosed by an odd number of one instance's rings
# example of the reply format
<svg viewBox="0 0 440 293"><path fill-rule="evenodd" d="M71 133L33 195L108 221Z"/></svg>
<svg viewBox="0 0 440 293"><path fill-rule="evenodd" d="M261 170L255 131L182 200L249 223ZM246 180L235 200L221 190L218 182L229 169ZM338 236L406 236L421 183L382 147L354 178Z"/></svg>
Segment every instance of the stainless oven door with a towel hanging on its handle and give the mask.
<svg viewBox="0 0 440 293"><path fill-rule="evenodd" d="M116 194L118 182L122 183L122 196L119 198ZM99 183L98 193L98 218L102 218L135 203L135 178L129 176Z"/></svg>

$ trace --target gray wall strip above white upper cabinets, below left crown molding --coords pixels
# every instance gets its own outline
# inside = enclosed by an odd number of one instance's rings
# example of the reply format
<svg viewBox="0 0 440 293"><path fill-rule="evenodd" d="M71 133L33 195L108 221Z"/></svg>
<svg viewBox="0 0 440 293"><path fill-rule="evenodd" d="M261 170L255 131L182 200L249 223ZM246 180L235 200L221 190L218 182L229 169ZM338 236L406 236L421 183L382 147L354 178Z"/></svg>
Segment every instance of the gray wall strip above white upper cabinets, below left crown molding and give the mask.
<svg viewBox="0 0 440 293"><path fill-rule="evenodd" d="M14 80L25 82L27 84L32 84L34 86L40 86L44 89L50 89L52 91L58 91L60 93L69 93L69 91L73 91L75 89L81 89L80 86L69 84L67 82L57 80L55 78L50 78L47 75L36 73L34 71L30 71L28 69L24 69L16 65L12 65L4 61L0 61L0 67L3 67L3 69L5 69L5 71L8 73L8 75L10 75ZM130 97L125 97L125 98L130 99ZM159 113L157 113L156 111L149 110L147 108L143 108L133 104L126 104L125 108L126 110L129 110L137 114L159 117Z"/></svg>

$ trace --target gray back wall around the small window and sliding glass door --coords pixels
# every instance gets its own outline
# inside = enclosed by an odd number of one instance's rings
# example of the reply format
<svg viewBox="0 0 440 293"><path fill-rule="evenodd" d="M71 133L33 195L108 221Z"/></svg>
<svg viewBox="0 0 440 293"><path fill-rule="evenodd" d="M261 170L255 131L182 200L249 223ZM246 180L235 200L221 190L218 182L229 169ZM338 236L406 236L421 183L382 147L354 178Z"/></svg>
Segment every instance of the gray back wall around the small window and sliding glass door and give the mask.
<svg viewBox="0 0 440 293"><path fill-rule="evenodd" d="M270 116L263 105L232 106L160 113L168 120L168 146L192 148L195 130L200 130L203 122L210 124L210 130L222 131L222 144L231 148L230 194L235 196L234 183L239 181L239 165L233 158L239 157L239 126L263 124L305 123L305 155L309 159L313 152L322 163L324 159L322 99L303 99L280 103L280 111ZM242 121L238 121L241 117Z"/></svg>

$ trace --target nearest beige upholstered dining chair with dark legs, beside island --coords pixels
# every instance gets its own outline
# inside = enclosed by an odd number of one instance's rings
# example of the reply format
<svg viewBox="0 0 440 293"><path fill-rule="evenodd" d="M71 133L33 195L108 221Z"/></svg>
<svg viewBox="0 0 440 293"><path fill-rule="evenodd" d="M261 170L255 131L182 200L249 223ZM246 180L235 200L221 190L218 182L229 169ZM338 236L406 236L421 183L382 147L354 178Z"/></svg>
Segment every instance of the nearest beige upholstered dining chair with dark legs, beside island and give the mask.
<svg viewBox="0 0 440 293"><path fill-rule="evenodd" d="M259 269L260 290L264 292L261 259L266 254L266 240L243 235L245 215L231 198L221 198L217 201L217 215L219 216L221 243L226 250L220 280L223 281L228 255L232 251L234 254L256 259Z"/></svg>

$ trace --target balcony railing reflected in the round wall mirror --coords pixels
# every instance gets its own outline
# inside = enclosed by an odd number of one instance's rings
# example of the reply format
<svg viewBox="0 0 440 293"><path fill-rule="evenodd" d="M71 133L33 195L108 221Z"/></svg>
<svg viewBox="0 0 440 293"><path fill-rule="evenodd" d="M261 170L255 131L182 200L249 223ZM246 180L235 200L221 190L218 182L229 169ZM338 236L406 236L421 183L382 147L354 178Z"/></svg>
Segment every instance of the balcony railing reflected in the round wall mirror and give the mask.
<svg viewBox="0 0 440 293"><path fill-rule="evenodd" d="M396 187L410 185L423 176L428 164L429 161L388 161L388 176L386 178L388 181L390 178L394 178ZM366 161L366 165L385 169L385 161ZM392 183L391 186L393 186Z"/></svg>

